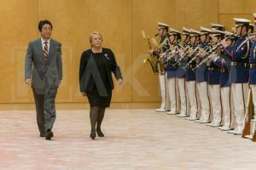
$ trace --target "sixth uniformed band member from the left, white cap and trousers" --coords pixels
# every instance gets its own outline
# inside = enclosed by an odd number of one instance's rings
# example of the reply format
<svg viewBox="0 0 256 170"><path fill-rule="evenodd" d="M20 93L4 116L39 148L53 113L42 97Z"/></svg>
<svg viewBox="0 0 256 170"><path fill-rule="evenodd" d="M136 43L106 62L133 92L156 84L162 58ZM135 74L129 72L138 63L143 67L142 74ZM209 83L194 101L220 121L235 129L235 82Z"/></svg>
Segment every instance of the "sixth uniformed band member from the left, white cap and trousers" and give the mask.
<svg viewBox="0 0 256 170"><path fill-rule="evenodd" d="M218 31L212 28L212 46L216 48L215 51L211 54L212 56L207 61L208 67L208 89L211 96L211 105L212 105L212 122L207 123L207 126L219 127L221 123L221 102L220 102L220 87L219 87L219 77L220 71L218 65L216 65L213 60L219 57L221 53L221 46L219 42L224 37L223 31Z"/></svg>

